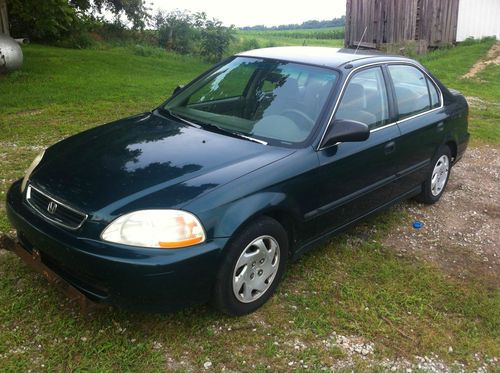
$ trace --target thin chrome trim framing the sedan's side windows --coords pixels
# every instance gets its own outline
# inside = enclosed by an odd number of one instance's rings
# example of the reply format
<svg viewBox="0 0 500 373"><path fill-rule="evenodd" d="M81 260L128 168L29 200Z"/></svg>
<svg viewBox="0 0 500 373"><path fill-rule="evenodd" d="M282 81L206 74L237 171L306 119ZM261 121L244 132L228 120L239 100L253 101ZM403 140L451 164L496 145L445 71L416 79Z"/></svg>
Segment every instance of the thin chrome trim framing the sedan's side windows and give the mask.
<svg viewBox="0 0 500 373"><path fill-rule="evenodd" d="M337 101L335 101L335 105L333 107L332 113L330 114L329 119L328 119L328 124L326 125L325 129L323 130L323 134L321 135L321 138L320 138L320 141L319 141L318 146L316 148L316 151L320 151L320 150L327 149L327 148L330 148L332 146L341 144L341 142L337 142L337 143L332 144L330 146L325 146L325 147L321 146L321 144L323 143L323 140L324 140L324 138L326 136L326 132L328 131L328 128L330 128L330 125L332 123L333 117L335 116L335 113L337 112L337 109L338 109L338 106L340 104L340 101L342 100L345 88L346 88L347 84L349 83L349 81L351 80L352 75L354 73L356 73L357 71L362 70L362 69L366 69L366 68L370 68L370 67L374 67L374 66L381 66L381 67L383 67L383 66L387 66L387 65L408 65L408 66L413 66L416 69L418 69L420 72L422 72L428 79L431 80L431 82L434 84L434 86L438 90L438 92L439 92L439 98L440 98L440 106L437 107L437 108L434 108L434 109L430 109L430 110L424 111L422 113L418 113L418 114L412 115L412 116L407 117L407 118L403 118L401 120L396 120L395 122L386 124L386 125L384 125L382 127L374 128L373 130L370 130L370 133L371 132L379 131L381 129L384 129L384 128L387 128L387 127L390 127L390 126L397 125L399 123L403 123L403 122L405 122L407 120L410 120L410 119L413 119L413 118L417 118L417 117L419 117L421 115L428 114L428 113L440 110L440 109L442 109L444 107L444 97L443 97L443 92L441 91L441 88L436 83L436 81L432 78L432 76L430 76L421 66L419 66L416 63L413 63L413 62L410 62L410 61L397 61L397 60L393 60L393 61L373 62L373 63L370 63L370 64L358 66L358 67L352 69L349 72L349 74L347 75L347 78L344 80L344 83L342 84L342 88L340 89L340 93L339 93L339 95L337 97ZM385 83L387 84L387 82L385 82ZM392 88L392 84L394 84L394 83L391 82L391 89L393 89ZM399 116L399 109L397 110L396 114L397 114L397 116Z"/></svg>

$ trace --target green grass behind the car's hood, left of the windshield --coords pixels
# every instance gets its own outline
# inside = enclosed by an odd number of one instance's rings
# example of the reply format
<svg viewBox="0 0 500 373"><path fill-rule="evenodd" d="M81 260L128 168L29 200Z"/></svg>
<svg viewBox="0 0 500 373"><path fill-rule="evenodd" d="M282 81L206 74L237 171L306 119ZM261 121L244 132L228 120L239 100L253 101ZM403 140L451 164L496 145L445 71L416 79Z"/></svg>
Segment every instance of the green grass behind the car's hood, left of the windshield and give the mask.
<svg viewBox="0 0 500 373"><path fill-rule="evenodd" d="M134 50L23 48L24 66L0 76L0 195L41 148L92 126L151 110L209 67L199 59ZM6 232L3 204L0 232Z"/></svg>

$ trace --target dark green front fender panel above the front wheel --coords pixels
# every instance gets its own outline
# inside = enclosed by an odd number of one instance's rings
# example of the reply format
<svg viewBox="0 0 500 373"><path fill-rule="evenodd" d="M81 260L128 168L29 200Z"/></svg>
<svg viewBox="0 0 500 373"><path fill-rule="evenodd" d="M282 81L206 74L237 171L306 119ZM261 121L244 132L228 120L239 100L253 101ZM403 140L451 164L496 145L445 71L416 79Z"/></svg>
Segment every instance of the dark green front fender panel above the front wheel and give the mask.
<svg viewBox="0 0 500 373"><path fill-rule="evenodd" d="M260 215L274 217L283 225L291 222L301 233L304 215L316 206L316 195L310 189L317 164L316 153L303 149L233 180L183 208L198 216L208 238L231 237L243 224Z"/></svg>

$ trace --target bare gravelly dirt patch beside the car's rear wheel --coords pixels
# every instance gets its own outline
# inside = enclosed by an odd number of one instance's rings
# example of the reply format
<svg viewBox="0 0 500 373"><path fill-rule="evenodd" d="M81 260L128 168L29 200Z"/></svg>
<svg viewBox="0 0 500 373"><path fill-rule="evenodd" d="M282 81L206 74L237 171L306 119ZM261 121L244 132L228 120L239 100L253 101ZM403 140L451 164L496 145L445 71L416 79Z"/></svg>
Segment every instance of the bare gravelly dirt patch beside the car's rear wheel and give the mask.
<svg viewBox="0 0 500 373"><path fill-rule="evenodd" d="M452 168L441 200L406 209L422 228L394 229L385 244L401 255L438 266L450 276L473 276L492 287L500 283L500 148L467 150Z"/></svg>

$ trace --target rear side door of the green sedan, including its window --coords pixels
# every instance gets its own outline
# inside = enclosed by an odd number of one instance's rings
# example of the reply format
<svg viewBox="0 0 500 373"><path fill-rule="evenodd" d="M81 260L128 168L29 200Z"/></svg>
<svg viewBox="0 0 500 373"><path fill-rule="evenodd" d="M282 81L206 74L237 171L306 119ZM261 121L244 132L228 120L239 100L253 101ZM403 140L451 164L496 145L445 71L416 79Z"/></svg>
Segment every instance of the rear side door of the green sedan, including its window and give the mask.
<svg viewBox="0 0 500 373"><path fill-rule="evenodd" d="M444 140L446 114L442 95L427 74L413 65L387 66L401 137L396 141L398 165L396 193L422 184L430 161Z"/></svg>

